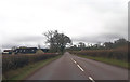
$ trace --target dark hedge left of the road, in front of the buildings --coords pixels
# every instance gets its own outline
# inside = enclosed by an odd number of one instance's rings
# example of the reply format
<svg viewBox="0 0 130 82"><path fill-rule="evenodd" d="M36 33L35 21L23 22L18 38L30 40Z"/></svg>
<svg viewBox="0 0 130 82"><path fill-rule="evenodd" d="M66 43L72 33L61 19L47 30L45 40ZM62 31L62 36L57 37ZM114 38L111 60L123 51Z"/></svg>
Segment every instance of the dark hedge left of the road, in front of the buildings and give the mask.
<svg viewBox="0 0 130 82"><path fill-rule="evenodd" d="M9 70L15 70L17 68L24 67L28 64L34 64L39 60L44 60L51 57L55 57L58 54L48 53L39 55L3 55L2 56L2 72L8 72Z"/></svg>

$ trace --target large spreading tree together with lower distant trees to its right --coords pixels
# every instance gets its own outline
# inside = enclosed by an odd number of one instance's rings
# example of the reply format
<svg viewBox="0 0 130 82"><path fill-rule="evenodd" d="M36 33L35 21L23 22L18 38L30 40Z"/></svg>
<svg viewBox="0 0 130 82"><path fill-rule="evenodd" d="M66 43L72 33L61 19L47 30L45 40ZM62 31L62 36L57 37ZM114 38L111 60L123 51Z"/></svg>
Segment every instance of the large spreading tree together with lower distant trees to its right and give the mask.
<svg viewBox="0 0 130 82"><path fill-rule="evenodd" d="M50 44L50 51L51 52L61 52L64 53L65 50L68 51L81 51L81 50L110 50L121 46L127 46L129 41L127 41L123 38L120 38L114 42L104 42L104 43L95 43L88 45L84 42L79 42L77 45L73 45L72 39L60 33L57 30L50 30L44 33L47 37L47 43ZM66 47L67 45L70 45L69 47Z"/></svg>

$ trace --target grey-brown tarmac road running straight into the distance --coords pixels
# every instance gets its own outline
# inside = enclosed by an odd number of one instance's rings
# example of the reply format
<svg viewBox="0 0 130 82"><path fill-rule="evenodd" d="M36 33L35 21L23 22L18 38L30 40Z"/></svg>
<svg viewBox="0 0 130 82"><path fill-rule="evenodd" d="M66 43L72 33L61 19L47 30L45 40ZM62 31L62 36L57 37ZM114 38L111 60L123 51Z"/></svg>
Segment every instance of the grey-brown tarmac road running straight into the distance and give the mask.
<svg viewBox="0 0 130 82"><path fill-rule="evenodd" d="M27 80L128 80L128 70L66 52Z"/></svg>

